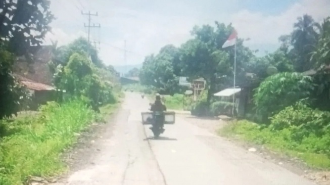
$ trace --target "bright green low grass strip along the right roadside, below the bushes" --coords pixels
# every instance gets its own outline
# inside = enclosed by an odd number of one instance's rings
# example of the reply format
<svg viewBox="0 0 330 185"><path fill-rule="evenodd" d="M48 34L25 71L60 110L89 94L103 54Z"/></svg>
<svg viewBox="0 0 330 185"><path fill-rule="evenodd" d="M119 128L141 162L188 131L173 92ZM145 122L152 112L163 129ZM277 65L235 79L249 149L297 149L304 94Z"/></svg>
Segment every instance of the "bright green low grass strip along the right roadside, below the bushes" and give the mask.
<svg viewBox="0 0 330 185"><path fill-rule="evenodd" d="M268 127L246 120L232 122L219 130L219 134L237 138L240 141L263 145L271 151L279 152L291 157L298 157L309 167L315 169L330 169L329 155L312 152L311 145L315 142L297 144L292 141L294 133L289 129L273 131ZM311 141L311 138L308 138ZM307 141L307 139L306 139Z"/></svg>

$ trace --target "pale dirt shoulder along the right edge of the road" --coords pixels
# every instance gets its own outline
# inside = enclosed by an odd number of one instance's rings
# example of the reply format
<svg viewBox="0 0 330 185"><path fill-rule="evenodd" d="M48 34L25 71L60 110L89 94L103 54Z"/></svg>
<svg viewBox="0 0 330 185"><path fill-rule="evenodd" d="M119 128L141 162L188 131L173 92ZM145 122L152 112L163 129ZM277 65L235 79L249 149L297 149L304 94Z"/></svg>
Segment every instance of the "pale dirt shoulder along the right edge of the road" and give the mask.
<svg viewBox="0 0 330 185"><path fill-rule="evenodd" d="M218 130L221 129L226 124L229 124L228 121L221 119L213 118L199 118L188 114L176 114L180 118L190 122L193 125L196 125L200 128L206 129L211 133L218 134ZM247 142L242 142L233 138L226 138L226 140L233 142L235 145L238 145L246 150L255 150L259 156L262 156L264 159L271 161L277 165L280 165L298 175L304 176L305 178L315 181L319 185L329 185L330 184L330 173L323 172L319 170L312 169L308 167L303 161L298 158L292 158L286 155L282 155L270 150L265 149L260 145L253 145Z"/></svg>

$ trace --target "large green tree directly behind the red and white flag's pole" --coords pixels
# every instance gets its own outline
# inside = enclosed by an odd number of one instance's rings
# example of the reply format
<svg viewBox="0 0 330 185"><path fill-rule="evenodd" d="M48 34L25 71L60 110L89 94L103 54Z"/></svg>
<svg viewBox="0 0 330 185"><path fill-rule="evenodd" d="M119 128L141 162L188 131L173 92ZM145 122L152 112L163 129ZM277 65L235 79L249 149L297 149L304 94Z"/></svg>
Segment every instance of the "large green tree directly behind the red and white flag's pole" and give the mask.
<svg viewBox="0 0 330 185"><path fill-rule="evenodd" d="M207 105L217 88L232 86L233 47L222 49L222 44L232 33L231 25L215 22L216 27L195 26L191 32L193 39L181 46L180 60L183 74L190 79L204 78L208 84ZM253 52L243 46L243 40L237 40L237 85L245 82L245 68L253 57Z"/></svg>

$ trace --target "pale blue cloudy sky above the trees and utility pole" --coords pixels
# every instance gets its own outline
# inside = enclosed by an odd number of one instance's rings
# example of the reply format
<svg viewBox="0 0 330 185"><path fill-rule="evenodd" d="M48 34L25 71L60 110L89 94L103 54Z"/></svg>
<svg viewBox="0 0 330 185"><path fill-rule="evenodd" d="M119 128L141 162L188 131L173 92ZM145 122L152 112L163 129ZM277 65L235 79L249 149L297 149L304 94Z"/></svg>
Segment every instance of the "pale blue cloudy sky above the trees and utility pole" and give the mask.
<svg viewBox="0 0 330 185"><path fill-rule="evenodd" d="M189 39L194 25L232 22L245 44L258 55L278 47L277 38L292 31L298 16L310 14L320 21L330 15L329 0L51 0L57 20L45 43L58 40L67 44L86 36L87 16L81 11L98 12L92 23L91 39L100 40L100 56L106 64L142 63L146 55L158 53L165 44L179 46ZM262 2L262 3L261 3ZM126 40L127 61L124 60Z"/></svg>

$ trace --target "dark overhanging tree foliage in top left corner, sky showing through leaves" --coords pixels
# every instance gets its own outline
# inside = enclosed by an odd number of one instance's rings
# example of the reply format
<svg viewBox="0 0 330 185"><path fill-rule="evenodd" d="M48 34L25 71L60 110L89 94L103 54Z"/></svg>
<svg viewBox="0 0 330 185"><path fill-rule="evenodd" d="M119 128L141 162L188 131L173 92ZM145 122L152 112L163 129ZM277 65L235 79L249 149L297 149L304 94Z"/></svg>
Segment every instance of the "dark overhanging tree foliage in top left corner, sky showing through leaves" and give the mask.
<svg viewBox="0 0 330 185"><path fill-rule="evenodd" d="M40 45L54 19L49 0L1 1L0 36L9 41L9 52L21 56L31 45Z"/></svg>

